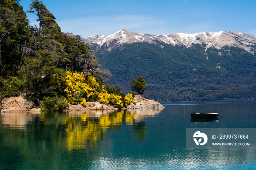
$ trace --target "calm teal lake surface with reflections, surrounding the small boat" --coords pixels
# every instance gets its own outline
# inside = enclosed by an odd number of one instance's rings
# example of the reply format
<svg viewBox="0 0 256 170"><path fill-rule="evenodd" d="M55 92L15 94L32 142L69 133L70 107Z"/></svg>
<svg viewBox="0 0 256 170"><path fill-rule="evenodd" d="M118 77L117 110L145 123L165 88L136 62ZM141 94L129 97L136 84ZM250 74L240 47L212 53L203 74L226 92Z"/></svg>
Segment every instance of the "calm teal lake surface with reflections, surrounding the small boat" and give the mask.
<svg viewBox="0 0 256 170"><path fill-rule="evenodd" d="M256 101L162 110L2 113L0 169L256 169L254 149L186 149L186 128L256 128ZM190 112L219 112L192 120Z"/></svg>

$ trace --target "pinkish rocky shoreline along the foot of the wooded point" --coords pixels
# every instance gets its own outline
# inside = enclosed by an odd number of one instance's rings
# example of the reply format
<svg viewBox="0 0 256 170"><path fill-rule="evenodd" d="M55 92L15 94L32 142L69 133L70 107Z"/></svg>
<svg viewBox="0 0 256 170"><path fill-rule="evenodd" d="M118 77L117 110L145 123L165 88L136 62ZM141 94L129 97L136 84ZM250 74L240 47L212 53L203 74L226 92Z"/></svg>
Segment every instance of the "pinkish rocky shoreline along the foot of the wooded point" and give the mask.
<svg viewBox="0 0 256 170"><path fill-rule="evenodd" d="M148 100L140 95L134 97L136 105L131 103L127 107L121 108L122 110L132 109L160 109L165 108L162 104L154 100ZM1 101L1 112L40 112L41 108L34 108L33 104L30 104L23 96L9 97ZM100 104L98 101L87 102L87 107L82 105L69 105L69 108L64 109L64 112L69 111L87 111L87 110L118 110L110 105Z"/></svg>

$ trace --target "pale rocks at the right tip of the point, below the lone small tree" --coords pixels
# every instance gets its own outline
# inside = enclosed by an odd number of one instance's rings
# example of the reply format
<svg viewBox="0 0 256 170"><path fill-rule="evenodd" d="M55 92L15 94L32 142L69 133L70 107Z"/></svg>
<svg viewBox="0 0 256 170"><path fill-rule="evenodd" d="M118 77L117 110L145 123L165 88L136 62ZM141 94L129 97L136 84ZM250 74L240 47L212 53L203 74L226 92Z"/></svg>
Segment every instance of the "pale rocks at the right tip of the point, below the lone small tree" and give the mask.
<svg viewBox="0 0 256 170"><path fill-rule="evenodd" d="M162 109L165 108L162 104L158 103L155 100L148 100L140 95L134 96L134 101L136 101L136 105L131 103L124 109Z"/></svg>

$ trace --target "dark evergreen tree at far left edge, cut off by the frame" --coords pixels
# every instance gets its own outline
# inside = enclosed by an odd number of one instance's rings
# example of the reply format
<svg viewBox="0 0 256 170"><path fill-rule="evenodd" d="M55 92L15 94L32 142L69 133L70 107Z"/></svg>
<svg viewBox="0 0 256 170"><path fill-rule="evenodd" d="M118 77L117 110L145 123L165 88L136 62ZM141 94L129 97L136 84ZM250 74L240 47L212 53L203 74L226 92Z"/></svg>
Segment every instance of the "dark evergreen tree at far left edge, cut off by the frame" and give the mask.
<svg viewBox="0 0 256 170"><path fill-rule="evenodd" d="M28 20L17 0L0 0L0 76L16 69L29 39ZM15 72L15 70L12 70Z"/></svg>

